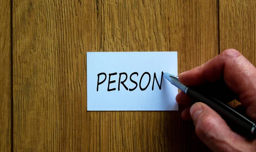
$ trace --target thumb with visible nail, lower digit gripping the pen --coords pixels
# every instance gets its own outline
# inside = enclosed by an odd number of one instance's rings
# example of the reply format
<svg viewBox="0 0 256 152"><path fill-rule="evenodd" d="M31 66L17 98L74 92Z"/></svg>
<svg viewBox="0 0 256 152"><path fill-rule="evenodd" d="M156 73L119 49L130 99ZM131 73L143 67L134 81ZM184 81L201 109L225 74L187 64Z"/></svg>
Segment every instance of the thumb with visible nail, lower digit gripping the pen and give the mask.
<svg viewBox="0 0 256 152"><path fill-rule="evenodd" d="M250 147L244 137L233 132L221 116L206 104L193 104L190 115L196 134L213 151L237 151Z"/></svg>

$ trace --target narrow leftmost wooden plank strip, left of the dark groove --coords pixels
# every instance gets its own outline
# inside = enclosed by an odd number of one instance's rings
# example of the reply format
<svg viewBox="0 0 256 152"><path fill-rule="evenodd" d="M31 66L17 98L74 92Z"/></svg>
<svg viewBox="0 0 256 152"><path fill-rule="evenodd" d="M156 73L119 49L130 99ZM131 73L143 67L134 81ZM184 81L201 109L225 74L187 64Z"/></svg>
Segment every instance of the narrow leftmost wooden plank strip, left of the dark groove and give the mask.
<svg viewBox="0 0 256 152"><path fill-rule="evenodd" d="M12 147L11 2L0 1L0 152Z"/></svg>

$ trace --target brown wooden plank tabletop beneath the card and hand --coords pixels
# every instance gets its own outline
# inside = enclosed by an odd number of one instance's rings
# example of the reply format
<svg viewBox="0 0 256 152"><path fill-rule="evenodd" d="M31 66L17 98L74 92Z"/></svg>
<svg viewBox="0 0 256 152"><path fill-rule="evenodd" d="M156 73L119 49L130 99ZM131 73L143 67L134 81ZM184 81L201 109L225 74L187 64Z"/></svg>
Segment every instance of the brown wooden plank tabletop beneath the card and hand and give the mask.
<svg viewBox="0 0 256 152"><path fill-rule="evenodd" d="M256 65L254 0L1 0L0 151L209 151L179 111L87 112L87 51L227 48ZM236 103L234 103L236 104Z"/></svg>

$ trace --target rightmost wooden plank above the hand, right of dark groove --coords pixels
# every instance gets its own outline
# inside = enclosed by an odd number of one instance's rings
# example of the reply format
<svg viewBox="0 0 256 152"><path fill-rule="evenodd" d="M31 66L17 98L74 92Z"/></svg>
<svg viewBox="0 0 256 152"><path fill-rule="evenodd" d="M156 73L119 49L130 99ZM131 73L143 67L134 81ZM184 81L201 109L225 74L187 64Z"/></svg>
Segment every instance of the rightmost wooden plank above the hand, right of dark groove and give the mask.
<svg viewBox="0 0 256 152"><path fill-rule="evenodd" d="M219 6L220 51L234 48L256 66L256 1L220 0Z"/></svg>

